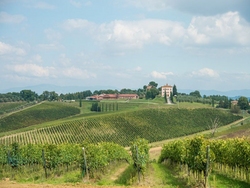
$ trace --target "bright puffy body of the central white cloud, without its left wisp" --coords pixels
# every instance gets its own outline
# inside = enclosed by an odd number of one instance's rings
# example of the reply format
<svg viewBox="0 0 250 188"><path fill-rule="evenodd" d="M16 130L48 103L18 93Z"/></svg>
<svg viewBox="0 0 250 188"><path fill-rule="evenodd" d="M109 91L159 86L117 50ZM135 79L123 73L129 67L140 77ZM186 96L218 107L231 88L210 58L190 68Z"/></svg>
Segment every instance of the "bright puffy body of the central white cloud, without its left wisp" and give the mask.
<svg viewBox="0 0 250 188"><path fill-rule="evenodd" d="M125 47L141 48L146 43L175 44L184 35L180 23L146 19L140 21L113 21L102 24L102 40L114 42Z"/></svg>

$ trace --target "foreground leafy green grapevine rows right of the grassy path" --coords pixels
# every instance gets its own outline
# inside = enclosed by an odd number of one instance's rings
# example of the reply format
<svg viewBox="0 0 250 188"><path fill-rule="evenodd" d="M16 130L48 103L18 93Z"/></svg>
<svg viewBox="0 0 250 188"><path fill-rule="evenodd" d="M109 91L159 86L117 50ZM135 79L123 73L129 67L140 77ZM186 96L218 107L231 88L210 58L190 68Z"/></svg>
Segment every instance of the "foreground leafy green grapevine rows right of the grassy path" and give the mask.
<svg viewBox="0 0 250 188"><path fill-rule="evenodd" d="M203 137L166 144L159 163L167 163L208 186L211 172L250 182L250 141L245 138L207 140Z"/></svg>

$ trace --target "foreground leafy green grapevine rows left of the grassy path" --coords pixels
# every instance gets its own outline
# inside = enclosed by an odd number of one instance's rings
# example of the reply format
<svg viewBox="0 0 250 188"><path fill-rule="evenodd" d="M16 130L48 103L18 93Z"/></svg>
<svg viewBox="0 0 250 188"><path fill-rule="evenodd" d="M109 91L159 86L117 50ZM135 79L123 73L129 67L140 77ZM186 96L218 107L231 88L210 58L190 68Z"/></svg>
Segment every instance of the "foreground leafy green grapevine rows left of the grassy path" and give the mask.
<svg viewBox="0 0 250 188"><path fill-rule="evenodd" d="M26 146L13 143L0 147L0 178L13 178L23 172L26 172L23 176L27 176L23 178L48 178L72 170L81 172L82 177L94 178L104 173L111 163L119 161L131 163L132 159L122 146L114 143Z"/></svg>

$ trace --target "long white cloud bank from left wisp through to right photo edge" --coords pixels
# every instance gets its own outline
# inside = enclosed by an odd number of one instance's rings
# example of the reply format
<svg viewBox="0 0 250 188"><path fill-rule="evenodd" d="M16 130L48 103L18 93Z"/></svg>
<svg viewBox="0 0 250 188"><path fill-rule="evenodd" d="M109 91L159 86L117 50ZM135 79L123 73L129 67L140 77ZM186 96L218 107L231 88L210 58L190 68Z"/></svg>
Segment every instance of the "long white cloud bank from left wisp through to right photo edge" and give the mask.
<svg viewBox="0 0 250 188"><path fill-rule="evenodd" d="M159 19L115 20L100 25L83 19L69 19L63 27L70 31L85 31L101 44L114 49L138 49L154 43L183 47L212 45L222 48L250 45L250 24L238 12L196 16L188 28L179 22Z"/></svg>

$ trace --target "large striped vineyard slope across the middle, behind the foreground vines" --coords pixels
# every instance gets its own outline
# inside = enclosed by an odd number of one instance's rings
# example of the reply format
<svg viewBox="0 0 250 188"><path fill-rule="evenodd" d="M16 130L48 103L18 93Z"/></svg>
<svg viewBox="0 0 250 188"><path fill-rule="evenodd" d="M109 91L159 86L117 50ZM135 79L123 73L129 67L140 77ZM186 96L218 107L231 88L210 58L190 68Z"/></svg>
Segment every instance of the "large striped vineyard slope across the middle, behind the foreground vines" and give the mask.
<svg viewBox="0 0 250 188"><path fill-rule="evenodd" d="M143 109L83 118L0 138L0 144L61 144L90 141L128 146L136 137L156 142L209 129L211 120L227 125L241 116L215 109Z"/></svg>

